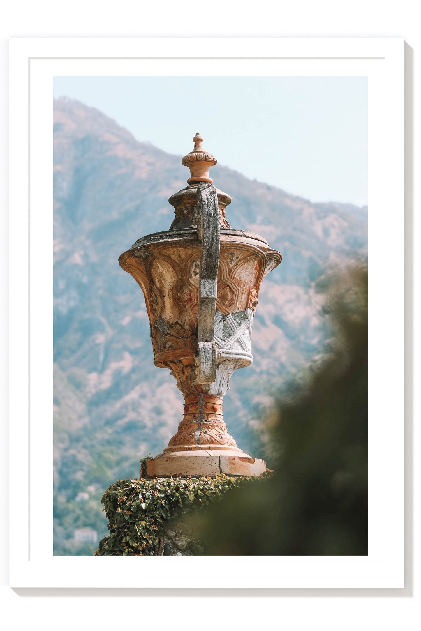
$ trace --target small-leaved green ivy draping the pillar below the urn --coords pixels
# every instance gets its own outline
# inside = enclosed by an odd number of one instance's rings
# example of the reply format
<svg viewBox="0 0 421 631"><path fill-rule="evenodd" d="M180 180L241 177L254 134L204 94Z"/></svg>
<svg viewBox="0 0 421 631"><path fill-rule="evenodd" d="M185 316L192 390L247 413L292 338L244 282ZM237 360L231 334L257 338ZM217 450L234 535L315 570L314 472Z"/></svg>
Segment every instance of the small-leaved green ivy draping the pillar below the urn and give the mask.
<svg viewBox="0 0 421 631"><path fill-rule="evenodd" d="M202 478L154 478L117 480L102 496L109 521L109 536L99 543L95 555L154 555L163 525L187 508L200 510L218 502L224 493L259 477L227 475Z"/></svg>

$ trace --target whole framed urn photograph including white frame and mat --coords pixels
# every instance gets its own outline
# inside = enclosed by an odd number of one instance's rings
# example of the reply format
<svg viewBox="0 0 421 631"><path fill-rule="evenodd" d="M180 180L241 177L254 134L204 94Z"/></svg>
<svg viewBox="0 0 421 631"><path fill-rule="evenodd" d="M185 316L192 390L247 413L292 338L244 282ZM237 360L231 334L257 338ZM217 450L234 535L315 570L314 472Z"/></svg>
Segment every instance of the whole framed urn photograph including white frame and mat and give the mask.
<svg viewBox="0 0 421 631"><path fill-rule="evenodd" d="M11 587L404 587L403 40L11 40L10 252Z"/></svg>

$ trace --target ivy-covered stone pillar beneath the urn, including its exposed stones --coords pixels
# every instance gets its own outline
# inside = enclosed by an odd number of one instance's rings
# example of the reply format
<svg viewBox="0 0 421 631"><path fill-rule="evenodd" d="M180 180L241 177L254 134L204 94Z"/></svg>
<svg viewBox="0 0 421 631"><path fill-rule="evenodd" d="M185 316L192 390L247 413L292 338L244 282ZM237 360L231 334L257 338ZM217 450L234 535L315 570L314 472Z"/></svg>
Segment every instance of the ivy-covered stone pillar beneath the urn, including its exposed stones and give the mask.
<svg viewBox="0 0 421 631"><path fill-rule="evenodd" d="M117 480L104 493L109 536L95 555L177 556L206 554L194 527L194 517L225 493L249 484L264 484L262 476L202 476L201 478L141 478Z"/></svg>

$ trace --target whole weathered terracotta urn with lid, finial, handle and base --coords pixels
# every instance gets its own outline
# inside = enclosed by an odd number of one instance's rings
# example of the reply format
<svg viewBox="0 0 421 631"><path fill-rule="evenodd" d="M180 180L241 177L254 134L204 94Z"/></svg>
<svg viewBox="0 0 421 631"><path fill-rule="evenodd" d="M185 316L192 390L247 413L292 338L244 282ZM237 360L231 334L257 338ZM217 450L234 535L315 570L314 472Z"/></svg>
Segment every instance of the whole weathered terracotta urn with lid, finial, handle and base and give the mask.
<svg viewBox="0 0 421 631"><path fill-rule="evenodd" d="M177 433L146 475L261 475L263 460L237 447L223 420L223 397L234 370L252 362L252 322L264 276L282 260L263 237L234 230L225 218L232 201L216 189L203 149L182 158L188 186L172 195L169 230L142 237L119 257L143 291L154 363L167 368L184 395Z"/></svg>

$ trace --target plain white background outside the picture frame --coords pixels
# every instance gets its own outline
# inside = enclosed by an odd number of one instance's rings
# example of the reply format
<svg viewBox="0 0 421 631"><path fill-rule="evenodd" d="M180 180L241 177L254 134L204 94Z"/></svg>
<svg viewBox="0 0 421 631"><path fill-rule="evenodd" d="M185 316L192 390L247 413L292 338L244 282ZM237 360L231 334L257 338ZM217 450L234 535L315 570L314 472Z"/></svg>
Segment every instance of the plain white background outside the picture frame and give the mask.
<svg viewBox="0 0 421 631"><path fill-rule="evenodd" d="M121 6L124 5L122 9ZM164 6L165 5L165 6ZM73 0L71 4L47 2L37 3L15 1L3 9L3 27L1 32L1 134L0 166L1 216L6 228L5 212L7 208L6 160L7 160L7 38L8 37L403 37L408 42L407 75L414 79L413 93L407 86L407 114L408 122L413 122L412 134L406 140L406 269L407 297L406 307L408 330L406 343L408 345L407 358L407 412L408 412L408 451L407 451L407 499L406 512L406 552L407 572L405 589L371 589L371 590L288 590L252 591L236 594L230 591L227 598L225 591L219 591L218 574L215 574L215 590L204 595L197 590L190 590L189 595L194 598L186 599L186 590L166 591L165 593L146 590L139 595L138 590L104 590L91 589L74 590L37 590L19 589L12 591L7 587L7 531L8 522L6 506L8 498L3 491L2 500L4 512L0 519L0 541L4 563L1 567L1 596L4 599L3 616L10 616L6 628L27 629L42 627L44 629L60 628L63 630L79 628L95 629L114 625L145 625L154 624L155 628L213 628L216 625L226 628L228 622L234 628L242 625L247 627L276 628L307 628L320 626L326 629L341 628L347 630L359 627L362 629L401 628L411 630L420 623L420 592L417 591L417 575L415 570L419 565L417 546L413 545L412 533L420 531L421 524L417 516L420 499L416 499L419 488L419 469L413 463L414 473L418 475L418 487L411 484L412 474L412 439L417 438L416 430L412 433L411 416L411 353L412 331L412 300L410 289L412 286L412 269L410 257L412 255L412 239L417 237L417 221L412 221L412 209L415 213L417 192L419 195L420 179L411 186L413 173L421 172L419 159L420 132L417 126L415 112L420 110L420 72L417 68L417 54L420 50L420 20L417 18L415 2L377 2L372 0L344 4L319 0L319 2L304 2L296 0L292 3L256 2L220 2L216 0L209 4L194 4L185 1L157 3L157 9L151 8L152 3L126 1L120 6L114 1L102 2ZM258 9L256 7L258 6ZM418 97L418 102L415 100ZM412 119L413 112L413 119ZM419 116L419 115L418 115ZM411 132L411 127L408 129ZM418 152L417 152L418 150ZM418 162L417 162L418 159ZM413 205L414 204L414 205ZM7 282L7 230L0 229L1 246L1 287L4 290L1 302L2 332L6 327L6 282ZM393 264L393 257L391 257ZM417 269L418 268L418 269ZM415 254L415 280L420 284L419 256ZM419 321L419 289L414 296L414 321ZM418 318L417 318L418 315ZM414 341L417 341L415 335ZM6 335L1 338L0 353L6 357ZM3 346L4 345L4 346ZM6 370L4 362L2 370ZM415 364L414 380L417 384L417 365ZM419 372L419 371L418 371ZM6 422L6 392L7 373L0 375L0 387L4 395L2 408L2 422ZM418 380L419 380L418 375ZM419 387L418 387L419 391ZM419 396L419 395L418 395ZM414 418L417 418L418 407L414 401ZM6 430L5 430L6 431ZM3 434L4 435L4 434ZM7 442L2 441L0 455L2 488L7 488ZM415 478L415 482L417 478ZM18 490L18 485L16 485ZM412 513L410 500L414 491L414 511ZM419 490L418 490L419 495ZM413 522L412 522L413 517ZM418 521L417 521L418 517ZM416 543L416 542L415 542ZM412 553L414 559L412 563ZM417 563L418 561L418 563ZM198 588L200 587L198 577ZM258 585L256 577L256 585ZM235 577L233 577L235 584ZM233 593L234 592L234 593ZM89 596L87 594L90 594ZM144 595L145 594L145 595ZM418 615L416 608L418 607ZM210 611L213 612L210 615ZM270 619L273 621L270 622ZM268 625L269 623L269 625Z"/></svg>

